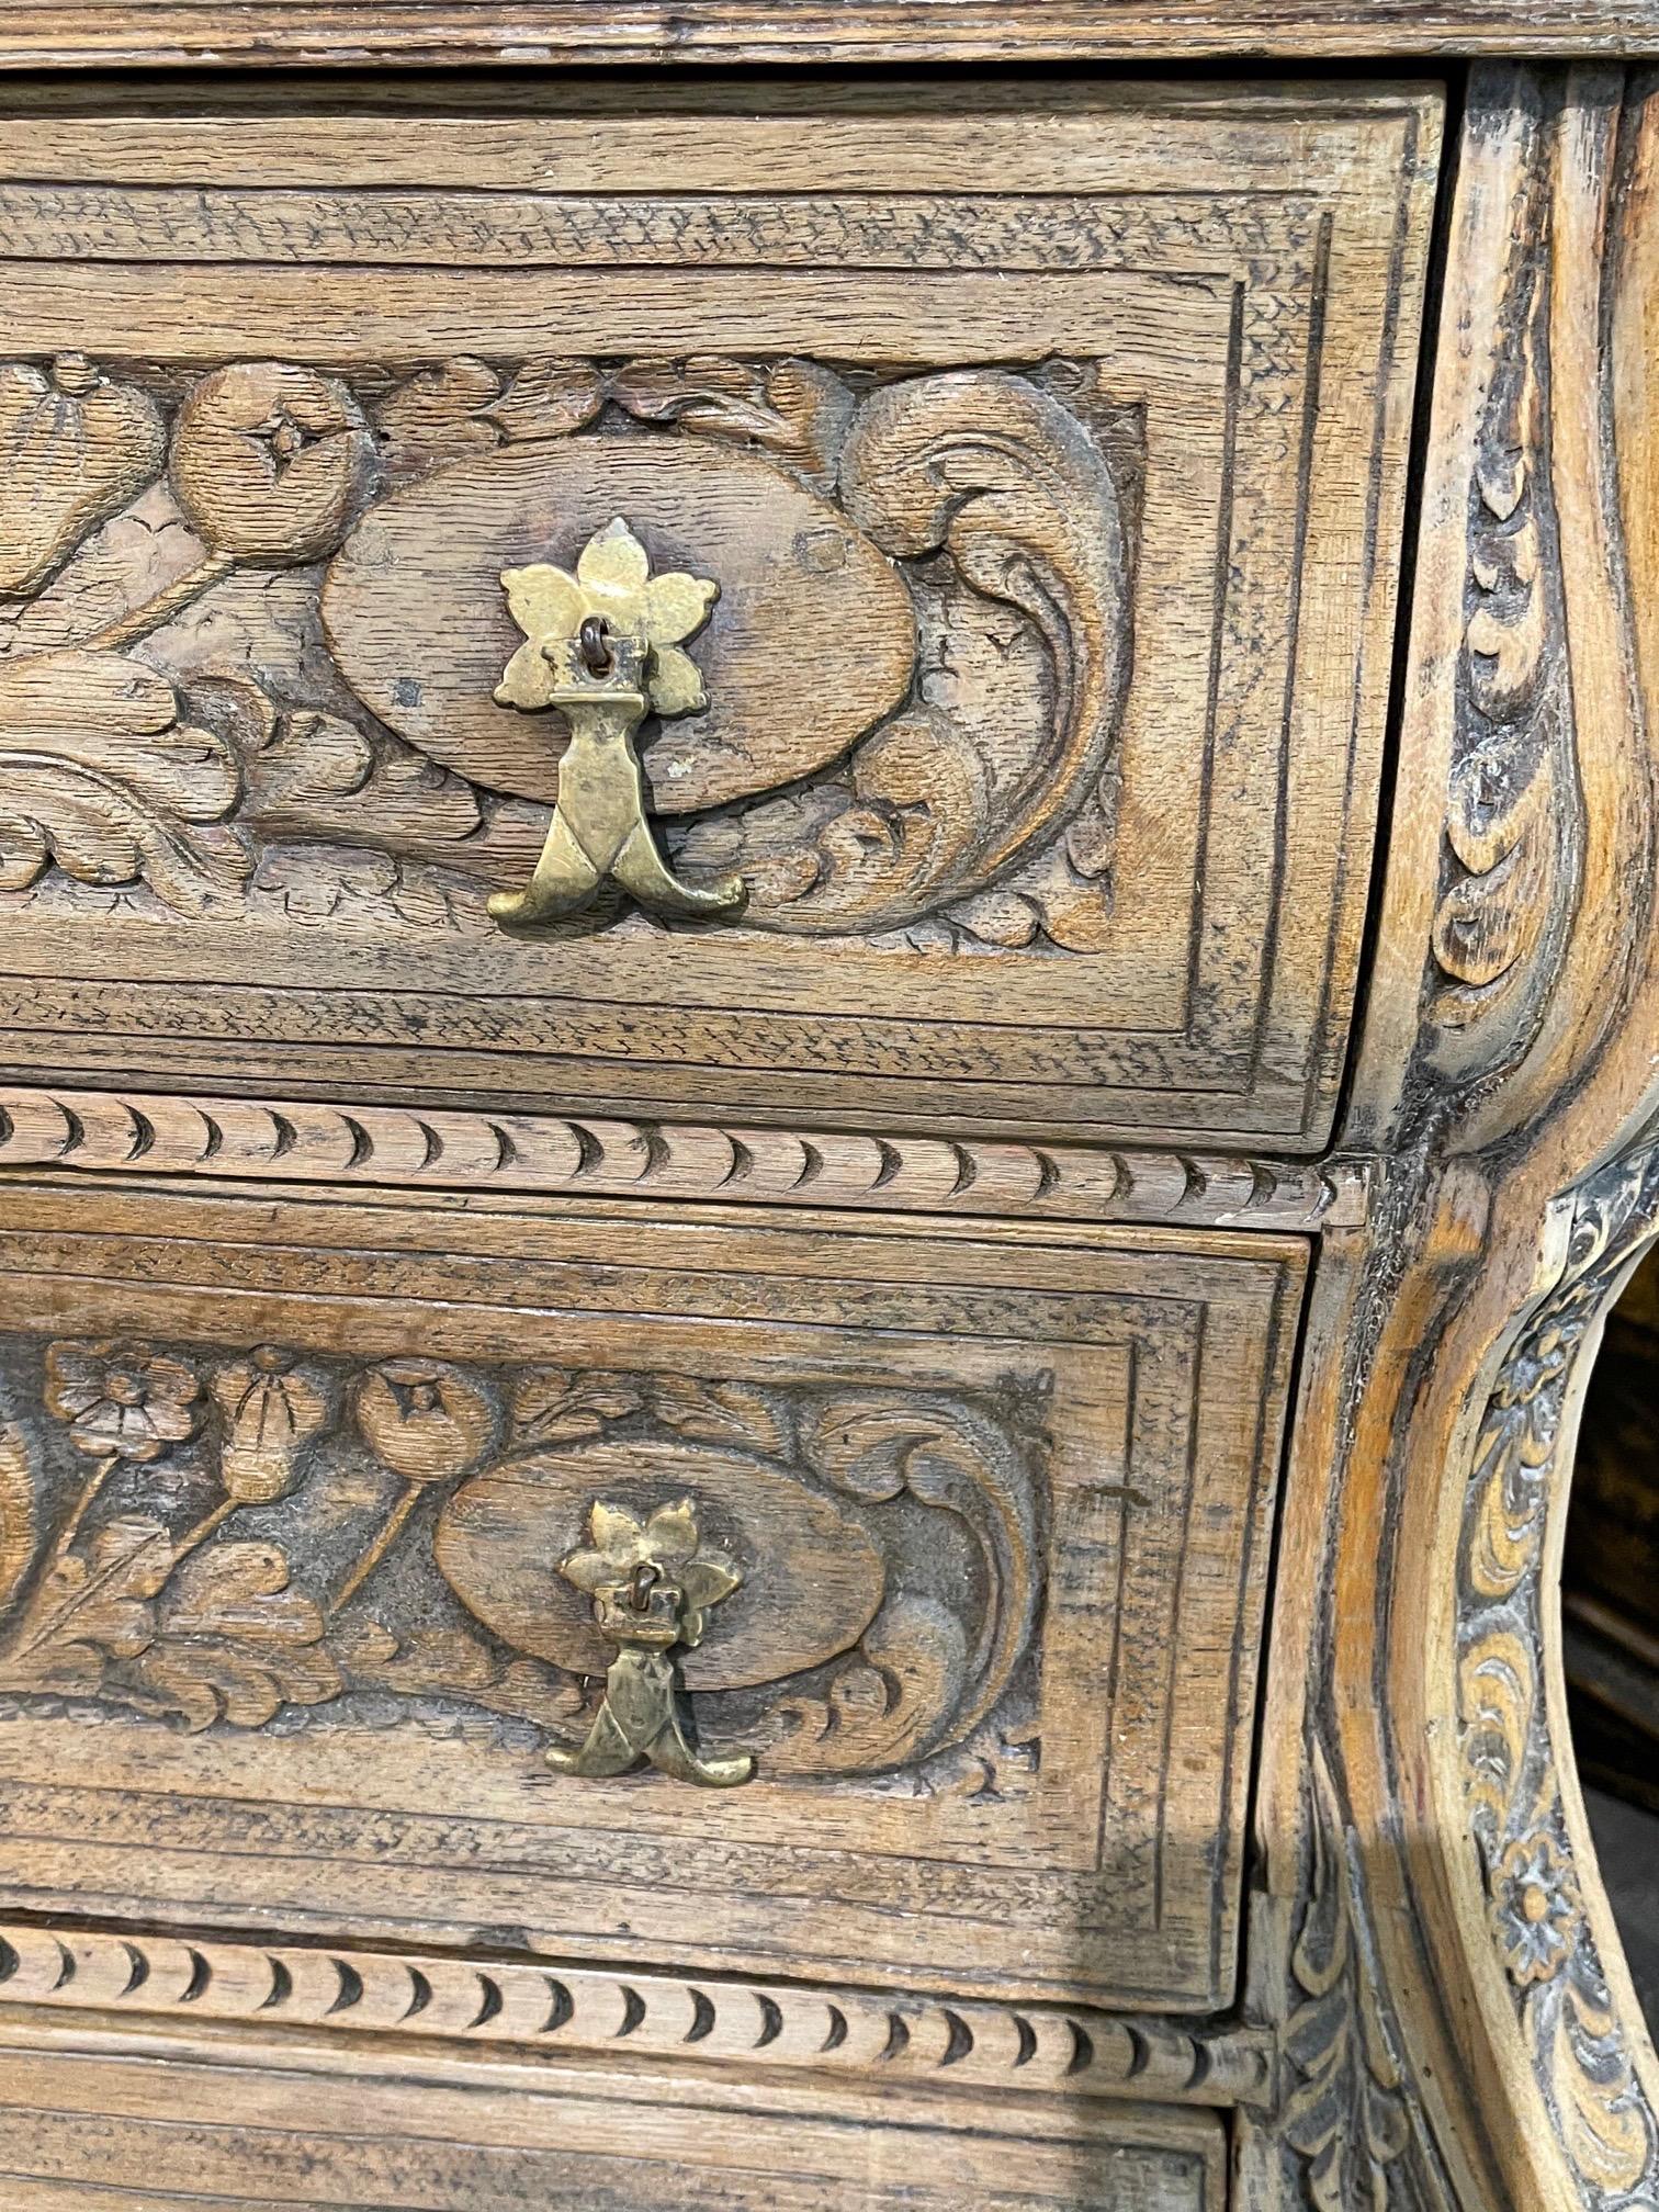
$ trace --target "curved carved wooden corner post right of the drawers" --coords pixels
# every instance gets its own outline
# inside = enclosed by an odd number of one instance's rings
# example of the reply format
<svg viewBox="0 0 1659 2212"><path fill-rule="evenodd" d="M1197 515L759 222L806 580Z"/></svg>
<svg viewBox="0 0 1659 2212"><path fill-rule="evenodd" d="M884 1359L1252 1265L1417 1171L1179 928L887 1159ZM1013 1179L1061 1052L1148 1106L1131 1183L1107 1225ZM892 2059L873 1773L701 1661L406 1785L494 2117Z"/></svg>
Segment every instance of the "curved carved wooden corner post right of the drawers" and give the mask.
<svg viewBox="0 0 1659 2212"><path fill-rule="evenodd" d="M1635 2212L1659 2068L1566 1741L1601 1318L1659 1232L1659 91L1482 69L1400 803L1287 1491L1243 2201Z"/></svg>

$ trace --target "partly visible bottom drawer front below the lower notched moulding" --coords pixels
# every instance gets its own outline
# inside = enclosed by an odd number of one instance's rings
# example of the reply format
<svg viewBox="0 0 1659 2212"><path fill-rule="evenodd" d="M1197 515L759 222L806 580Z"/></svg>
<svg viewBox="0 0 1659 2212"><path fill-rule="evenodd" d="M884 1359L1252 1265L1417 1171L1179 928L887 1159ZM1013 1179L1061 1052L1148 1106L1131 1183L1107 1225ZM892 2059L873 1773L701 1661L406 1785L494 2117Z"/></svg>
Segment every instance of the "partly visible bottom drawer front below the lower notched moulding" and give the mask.
<svg viewBox="0 0 1659 2212"><path fill-rule="evenodd" d="M1223 2212L1208 2112L902 2088L834 2106L776 2086L721 2099L664 2073L542 2059L403 2077L396 2055L334 2075L292 2046L254 2068L206 2053L4 2048L7 2212ZM221 2053L223 2057L223 2053ZM971 2126L962 2128L962 2119ZM960 2132L958 2132L960 2130ZM133 2177L144 2177L135 2188Z"/></svg>

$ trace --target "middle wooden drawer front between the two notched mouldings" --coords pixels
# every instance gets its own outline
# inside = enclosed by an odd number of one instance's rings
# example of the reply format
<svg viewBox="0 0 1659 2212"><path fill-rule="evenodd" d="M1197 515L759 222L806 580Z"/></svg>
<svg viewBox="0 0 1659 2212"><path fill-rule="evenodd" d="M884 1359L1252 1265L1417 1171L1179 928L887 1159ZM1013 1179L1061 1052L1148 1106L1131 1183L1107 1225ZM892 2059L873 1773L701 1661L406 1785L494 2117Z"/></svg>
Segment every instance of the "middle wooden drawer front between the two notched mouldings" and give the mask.
<svg viewBox="0 0 1659 2212"><path fill-rule="evenodd" d="M1303 1265L13 1183L0 1896L1223 2004Z"/></svg>

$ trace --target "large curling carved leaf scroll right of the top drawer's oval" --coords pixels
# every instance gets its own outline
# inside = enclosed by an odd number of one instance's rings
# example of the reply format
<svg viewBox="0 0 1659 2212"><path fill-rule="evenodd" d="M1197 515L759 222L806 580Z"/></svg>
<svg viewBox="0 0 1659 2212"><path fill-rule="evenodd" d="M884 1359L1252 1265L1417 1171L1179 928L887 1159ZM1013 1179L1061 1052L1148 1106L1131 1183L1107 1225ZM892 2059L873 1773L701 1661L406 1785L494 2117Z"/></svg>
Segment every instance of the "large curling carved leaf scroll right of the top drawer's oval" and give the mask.
<svg viewBox="0 0 1659 2212"><path fill-rule="evenodd" d="M1082 422L1000 372L894 383L858 411L841 462L847 513L887 553L947 553L982 602L1015 608L1042 641L1046 710L1035 745L1000 745L971 706L922 688L852 754L845 781L792 821L761 810L692 832L699 865L750 880L750 918L810 933L878 933L956 907L1015 942L1040 925L1095 949L1106 916L1102 803L1128 677L1128 573L1110 469ZM779 834L779 827L783 834ZM1064 838L1064 869L1024 902L971 902Z"/></svg>

